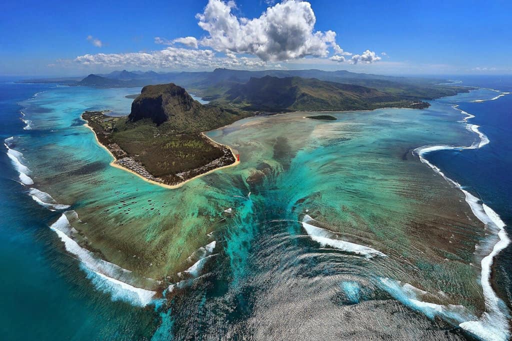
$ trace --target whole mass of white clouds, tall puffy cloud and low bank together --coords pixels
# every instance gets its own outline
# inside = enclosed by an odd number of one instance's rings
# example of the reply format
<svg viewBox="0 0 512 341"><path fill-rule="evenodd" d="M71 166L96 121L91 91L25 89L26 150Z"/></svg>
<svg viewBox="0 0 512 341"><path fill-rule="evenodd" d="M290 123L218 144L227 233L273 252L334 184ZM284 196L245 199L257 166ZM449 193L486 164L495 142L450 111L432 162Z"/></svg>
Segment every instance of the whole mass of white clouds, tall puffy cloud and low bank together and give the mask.
<svg viewBox="0 0 512 341"><path fill-rule="evenodd" d="M156 44L168 47L151 52L87 54L74 61L106 67L208 69L275 67L277 62L304 57L352 64L369 64L381 59L370 50L356 55L345 51L337 44L334 31L315 31L316 17L306 1L266 3L269 7L265 12L250 19L236 14L239 11L235 11L237 5L232 0L208 0L203 12L196 14L198 25L206 32L201 39L155 37ZM97 38L89 36L88 40L97 47L103 46Z"/></svg>

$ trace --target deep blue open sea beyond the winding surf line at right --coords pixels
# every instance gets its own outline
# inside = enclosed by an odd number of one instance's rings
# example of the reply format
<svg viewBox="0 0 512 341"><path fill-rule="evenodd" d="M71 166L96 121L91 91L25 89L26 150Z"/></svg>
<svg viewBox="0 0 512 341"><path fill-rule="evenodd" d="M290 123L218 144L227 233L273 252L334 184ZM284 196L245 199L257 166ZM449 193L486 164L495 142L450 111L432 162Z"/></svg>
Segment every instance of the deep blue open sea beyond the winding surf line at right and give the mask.
<svg viewBox="0 0 512 341"><path fill-rule="evenodd" d="M456 77L464 85L512 92L510 76ZM498 93L497 93L498 94ZM490 143L476 150L439 151L429 155L450 178L470 189L492 207L506 223L512 236L512 95L482 103L461 103L459 109L475 115L469 123L480 125L480 131ZM512 245L503 250L495 260L496 288L512 302Z"/></svg>

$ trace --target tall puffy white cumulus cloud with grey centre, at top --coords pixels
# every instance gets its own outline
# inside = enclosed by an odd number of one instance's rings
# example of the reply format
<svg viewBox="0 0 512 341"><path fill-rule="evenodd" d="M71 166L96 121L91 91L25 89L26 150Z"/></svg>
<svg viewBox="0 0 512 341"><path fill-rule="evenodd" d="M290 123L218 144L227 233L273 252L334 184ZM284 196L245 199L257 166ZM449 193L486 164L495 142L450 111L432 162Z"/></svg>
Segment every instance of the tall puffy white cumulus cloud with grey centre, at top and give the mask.
<svg viewBox="0 0 512 341"><path fill-rule="evenodd" d="M201 45L265 61L327 57L330 47L339 49L335 32L314 31L316 17L308 2L288 0L253 19L237 17L231 11L235 7L232 1L209 0L203 13L196 15L198 25L208 32Z"/></svg>

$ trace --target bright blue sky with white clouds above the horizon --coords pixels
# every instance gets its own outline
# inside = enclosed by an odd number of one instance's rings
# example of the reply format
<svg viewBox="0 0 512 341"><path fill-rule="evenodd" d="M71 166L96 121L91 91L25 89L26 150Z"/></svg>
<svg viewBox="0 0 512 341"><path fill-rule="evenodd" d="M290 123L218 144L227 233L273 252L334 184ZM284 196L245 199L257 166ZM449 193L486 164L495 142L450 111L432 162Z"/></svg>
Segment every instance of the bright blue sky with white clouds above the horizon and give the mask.
<svg viewBox="0 0 512 341"><path fill-rule="evenodd" d="M8 1L0 75L322 69L512 74L510 1Z"/></svg>

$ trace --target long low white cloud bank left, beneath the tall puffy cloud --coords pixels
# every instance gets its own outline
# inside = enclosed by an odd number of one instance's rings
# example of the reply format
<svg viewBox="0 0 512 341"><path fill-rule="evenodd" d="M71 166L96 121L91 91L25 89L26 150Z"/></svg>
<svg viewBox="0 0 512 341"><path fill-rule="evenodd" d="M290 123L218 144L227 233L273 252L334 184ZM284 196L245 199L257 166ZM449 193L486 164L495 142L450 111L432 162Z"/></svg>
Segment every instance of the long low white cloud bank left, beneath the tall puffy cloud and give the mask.
<svg viewBox="0 0 512 341"><path fill-rule="evenodd" d="M261 68L267 65L259 58L235 55L217 57L212 50L168 47L153 52L98 53L78 56L75 62L86 66L142 67L153 69L210 69L221 67Z"/></svg>

